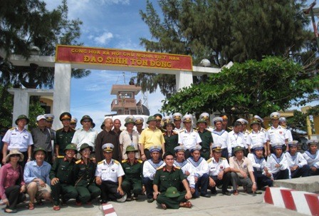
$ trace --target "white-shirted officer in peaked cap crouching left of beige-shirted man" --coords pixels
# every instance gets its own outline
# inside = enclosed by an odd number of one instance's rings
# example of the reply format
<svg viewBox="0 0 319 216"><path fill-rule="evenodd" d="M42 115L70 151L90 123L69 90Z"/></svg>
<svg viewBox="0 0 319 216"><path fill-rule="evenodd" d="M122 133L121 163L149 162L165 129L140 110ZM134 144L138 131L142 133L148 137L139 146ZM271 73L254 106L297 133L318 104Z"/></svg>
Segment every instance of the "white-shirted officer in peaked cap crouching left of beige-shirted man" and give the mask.
<svg viewBox="0 0 319 216"><path fill-rule="evenodd" d="M224 195L231 195L227 190L229 183L231 182L231 168L229 168L229 163L226 158L221 158L221 148L219 146L214 146L213 157L207 160L209 168L209 189L212 195L216 195L216 186L223 185L221 187L221 192Z"/></svg>

